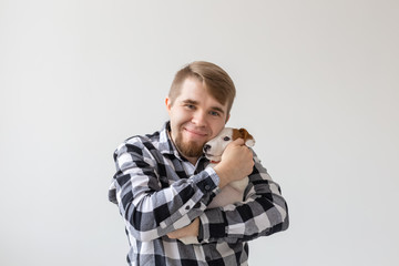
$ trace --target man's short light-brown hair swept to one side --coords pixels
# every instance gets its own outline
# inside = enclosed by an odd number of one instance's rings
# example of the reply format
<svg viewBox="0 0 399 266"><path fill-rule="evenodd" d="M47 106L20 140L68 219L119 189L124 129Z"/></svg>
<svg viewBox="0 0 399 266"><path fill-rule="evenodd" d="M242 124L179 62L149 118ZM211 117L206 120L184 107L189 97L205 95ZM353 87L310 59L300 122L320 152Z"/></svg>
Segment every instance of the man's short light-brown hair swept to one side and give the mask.
<svg viewBox="0 0 399 266"><path fill-rule="evenodd" d="M221 66L205 62L195 61L177 71L172 82L168 98L171 103L178 96L183 82L187 78L195 78L205 84L207 92L221 104L227 102L227 115L233 106L236 90L233 80Z"/></svg>

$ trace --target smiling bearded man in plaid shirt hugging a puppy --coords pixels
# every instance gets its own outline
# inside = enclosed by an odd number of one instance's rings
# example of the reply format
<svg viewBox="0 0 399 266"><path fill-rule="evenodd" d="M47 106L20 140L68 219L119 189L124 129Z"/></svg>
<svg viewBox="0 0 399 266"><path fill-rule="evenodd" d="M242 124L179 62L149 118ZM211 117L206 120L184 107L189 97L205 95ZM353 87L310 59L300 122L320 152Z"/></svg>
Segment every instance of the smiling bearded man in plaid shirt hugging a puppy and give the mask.
<svg viewBox="0 0 399 266"><path fill-rule="evenodd" d="M224 70L193 62L175 75L164 127L116 149L110 201L125 222L130 265L247 265L248 241L288 227L278 184L243 140L205 168L203 146L225 126L234 98ZM244 203L206 209L221 188L247 175ZM183 236L200 244L184 245Z"/></svg>

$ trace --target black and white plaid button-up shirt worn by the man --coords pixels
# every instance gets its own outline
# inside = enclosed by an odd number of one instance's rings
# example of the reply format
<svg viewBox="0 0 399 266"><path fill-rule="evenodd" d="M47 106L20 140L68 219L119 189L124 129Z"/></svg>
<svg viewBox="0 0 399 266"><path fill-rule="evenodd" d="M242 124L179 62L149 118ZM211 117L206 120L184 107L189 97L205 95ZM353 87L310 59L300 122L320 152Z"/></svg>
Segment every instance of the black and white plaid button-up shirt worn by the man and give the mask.
<svg viewBox="0 0 399 266"><path fill-rule="evenodd" d="M168 136L170 124L133 136L114 153L116 174L109 191L124 218L130 265L247 265L247 242L288 227L278 184L254 153L244 203L206 209L219 192L219 177L208 161L194 166ZM167 233L200 217L200 244L184 245Z"/></svg>

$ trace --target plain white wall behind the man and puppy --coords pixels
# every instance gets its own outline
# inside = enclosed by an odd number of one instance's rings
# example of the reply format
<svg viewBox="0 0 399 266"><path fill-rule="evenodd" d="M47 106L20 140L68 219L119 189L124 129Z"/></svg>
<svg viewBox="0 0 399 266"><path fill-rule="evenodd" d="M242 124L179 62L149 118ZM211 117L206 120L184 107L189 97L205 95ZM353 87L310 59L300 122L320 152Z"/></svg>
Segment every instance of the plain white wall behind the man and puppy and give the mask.
<svg viewBox="0 0 399 266"><path fill-rule="evenodd" d="M0 265L125 265L112 153L158 130L185 63L238 90L232 126L290 228L252 266L398 265L399 2L0 1Z"/></svg>

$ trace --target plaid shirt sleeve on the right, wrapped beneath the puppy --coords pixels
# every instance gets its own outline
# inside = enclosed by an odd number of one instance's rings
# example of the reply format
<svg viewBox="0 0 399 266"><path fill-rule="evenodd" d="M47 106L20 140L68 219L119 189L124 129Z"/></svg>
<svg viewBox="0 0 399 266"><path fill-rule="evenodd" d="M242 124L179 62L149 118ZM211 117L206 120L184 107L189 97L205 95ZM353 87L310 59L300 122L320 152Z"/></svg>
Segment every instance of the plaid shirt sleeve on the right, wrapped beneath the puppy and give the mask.
<svg viewBox="0 0 399 266"><path fill-rule="evenodd" d="M206 209L200 216L200 243L252 241L288 228L287 203L280 187L254 153L255 166L248 176L244 203Z"/></svg>

